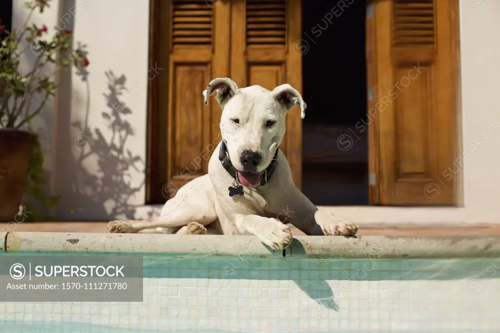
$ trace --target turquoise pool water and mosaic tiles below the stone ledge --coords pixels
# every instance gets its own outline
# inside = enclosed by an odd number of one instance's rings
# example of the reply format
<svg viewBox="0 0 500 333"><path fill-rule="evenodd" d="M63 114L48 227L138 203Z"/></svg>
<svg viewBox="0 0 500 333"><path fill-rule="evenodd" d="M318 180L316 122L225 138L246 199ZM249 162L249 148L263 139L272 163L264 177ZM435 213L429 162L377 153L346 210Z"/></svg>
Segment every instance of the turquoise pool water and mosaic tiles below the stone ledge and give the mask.
<svg viewBox="0 0 500 333"><path fill-rule="evenodd" d="M492 333L500 332L497 270L500 258L151 254L142 302L0 302L0 332Z"/></svg>

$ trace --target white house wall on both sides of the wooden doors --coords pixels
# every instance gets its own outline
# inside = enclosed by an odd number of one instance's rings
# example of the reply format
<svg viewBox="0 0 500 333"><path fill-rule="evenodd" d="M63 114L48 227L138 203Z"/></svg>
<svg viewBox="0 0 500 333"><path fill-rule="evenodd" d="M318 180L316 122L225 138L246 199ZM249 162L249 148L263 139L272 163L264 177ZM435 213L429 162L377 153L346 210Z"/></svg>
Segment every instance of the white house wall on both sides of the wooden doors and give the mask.
<svg viewBox="0 0 500 333"><path fill-rule="evenodd" d="M59 0L59 15L74 2ZM15 1L14 1L15 2ZM74 20L74 39L87 44L90 66L87 81L75 70L63 73L61 89L52 118L52 133L42 134L52 145L45 145L46 167L52 174L54 193L63 196L58 214L65 220L108 220L142 218L157 213L157 207L144 206L146 151L146 86L148 71L148 1L81 0ZM459 0L461 121L459 139L463 150L476 139L476 151L463 153L463 207L334 207L336 215L357 222L500 222L500 109L497 105L497 78L500 77L500 1ZM80 3L81 4L81 3ZM46 14L55 20L54 7ZM19 5L14 6L19 11ZM74 10L71 10L74 12ZM16 15L14 14L14 17ZM108 93L105 71L124 75L126 107L122 121L133 128L124 150L140 158L137 169L120 170L127 159L110 144L112 130L102 112L112 110L103 94ZM161 70L157 70L161 75ZM47 113L48 114L48 113ZM71 127L79 121L88 130ZM496 125L495 125L496 121ZM488 132L489 128L489 132ZM45 132L50 133L50 131ZM98 133L102 134L99 138ZM83 136L82 136L83 135ZM75 141L76 140L76 141ZM117 141L115 141L117 142ZM476 142L477 143L477 142ZM479 148L480 146L480 148ZM126 152L125 152L126 154ZM450 165L453 167L453 165ZM124 176L126 174L126 176ZM462 174L455 176L461 177ZM120 178L123 176L123 178ZM114 180L112 177L115 177ZM461 181L461 179L460 179ZM440 183L436 181L436 184ZM422 188L423 190L423 188ZM82 205L80 212L68 212L70 205Z"/></svg>

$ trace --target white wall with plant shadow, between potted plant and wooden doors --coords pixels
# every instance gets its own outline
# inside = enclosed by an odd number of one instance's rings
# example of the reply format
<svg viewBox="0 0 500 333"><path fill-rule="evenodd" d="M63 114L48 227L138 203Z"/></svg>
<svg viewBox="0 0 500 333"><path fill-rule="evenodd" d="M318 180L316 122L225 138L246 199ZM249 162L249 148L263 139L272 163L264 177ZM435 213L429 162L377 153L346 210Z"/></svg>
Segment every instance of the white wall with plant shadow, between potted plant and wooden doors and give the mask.
<svg viewBox="0 0 500 333"><path fill-rule="evenodd" d="M27 12L21 2L14 1L14 17ZM61 72L58 95L42 117L48 130L39 130L51 190L61 195L56 215L65 220L150 210L143 206L147 81L160 72L148 70L148 3L58 0L35 16L37 24L72 30L73 47L84 44L90 61L87 71Z"/></svg>

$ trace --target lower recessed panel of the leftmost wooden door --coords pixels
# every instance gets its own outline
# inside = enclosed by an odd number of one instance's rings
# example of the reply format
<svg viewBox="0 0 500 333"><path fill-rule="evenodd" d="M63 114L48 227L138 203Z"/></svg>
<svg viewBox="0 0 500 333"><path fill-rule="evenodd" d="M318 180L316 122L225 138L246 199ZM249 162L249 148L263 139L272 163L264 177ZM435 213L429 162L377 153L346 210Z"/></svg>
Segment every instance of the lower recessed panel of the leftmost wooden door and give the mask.
<svg viewBox="0 0 500 333"><path fill-rule="evenodd" d="M182 53L182 52L180 52ZM201 92L210 78L210 56L197 52L186 58L172 54L167 118L167 181L181 186L207 172L200 153L213 136L213 105L204 105Z"/></svg>

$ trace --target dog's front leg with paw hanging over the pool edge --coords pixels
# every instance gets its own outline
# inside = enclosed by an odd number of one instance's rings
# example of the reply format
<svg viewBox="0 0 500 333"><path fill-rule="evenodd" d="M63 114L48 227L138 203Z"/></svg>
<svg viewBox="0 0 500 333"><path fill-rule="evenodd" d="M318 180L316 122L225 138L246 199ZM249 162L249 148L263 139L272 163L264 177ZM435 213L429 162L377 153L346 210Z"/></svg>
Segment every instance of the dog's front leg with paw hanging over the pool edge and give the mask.
<svg viewBox="0 0 500 333"><path fill-rule="evenodd" d="M252 234L257 239L277 250L288 247L292 235L290 227L276 218L259 215L236 215L236 227L242 234Z"/></svg>

